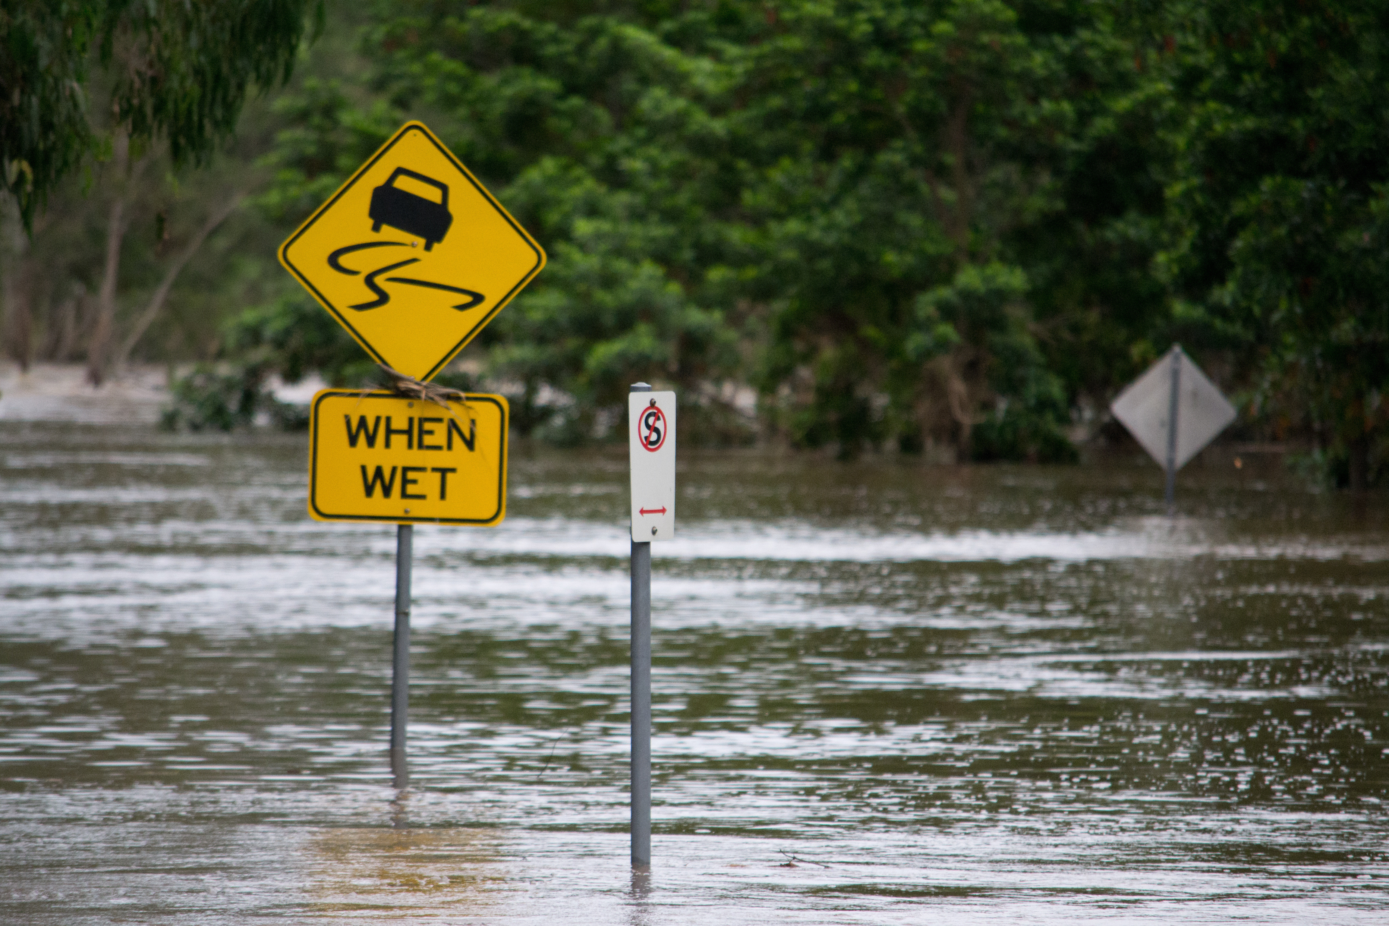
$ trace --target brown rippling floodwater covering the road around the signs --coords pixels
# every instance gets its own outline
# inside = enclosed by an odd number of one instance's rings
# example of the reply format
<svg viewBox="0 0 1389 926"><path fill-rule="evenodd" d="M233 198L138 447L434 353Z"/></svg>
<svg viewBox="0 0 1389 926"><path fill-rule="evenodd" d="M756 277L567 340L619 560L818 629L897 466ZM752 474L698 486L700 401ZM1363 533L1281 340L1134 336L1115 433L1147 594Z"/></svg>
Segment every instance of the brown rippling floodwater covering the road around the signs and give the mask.
<svg viewBox="0 0 1389 926"><path fill-rule="evenodd" d="M1383 923L1389 518L1275 466L683 454L626 843L626 461L304 512L301 436L0 422L0 922Z"/></svg>

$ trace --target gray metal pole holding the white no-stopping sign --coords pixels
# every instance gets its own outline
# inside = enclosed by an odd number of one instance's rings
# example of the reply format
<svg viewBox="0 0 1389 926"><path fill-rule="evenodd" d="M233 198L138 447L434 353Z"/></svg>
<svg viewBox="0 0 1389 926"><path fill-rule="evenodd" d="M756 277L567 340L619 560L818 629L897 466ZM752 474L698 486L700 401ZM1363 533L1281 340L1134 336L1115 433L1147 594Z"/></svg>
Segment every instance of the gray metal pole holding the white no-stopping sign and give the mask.
<svg viewBox="0 0 1389 926"><path fill-rule="evenodd" d="M649 393L646 383L633 393ZM632 541L632 865L651 864L651 543Z"/></svg>

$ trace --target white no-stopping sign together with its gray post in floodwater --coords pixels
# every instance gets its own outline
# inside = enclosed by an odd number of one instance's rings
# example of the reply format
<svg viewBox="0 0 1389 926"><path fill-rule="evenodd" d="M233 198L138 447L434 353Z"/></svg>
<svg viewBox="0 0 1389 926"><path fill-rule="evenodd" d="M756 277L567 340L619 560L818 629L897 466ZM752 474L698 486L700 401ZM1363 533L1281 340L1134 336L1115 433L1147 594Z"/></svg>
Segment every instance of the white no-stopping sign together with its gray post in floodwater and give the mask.
<svg viewBox="0 0 1389 926"><path fill-rule="evenodd" d="M651 541L675 539L675 393L635 383L632 468L632 865L651 864Z"/></svg>

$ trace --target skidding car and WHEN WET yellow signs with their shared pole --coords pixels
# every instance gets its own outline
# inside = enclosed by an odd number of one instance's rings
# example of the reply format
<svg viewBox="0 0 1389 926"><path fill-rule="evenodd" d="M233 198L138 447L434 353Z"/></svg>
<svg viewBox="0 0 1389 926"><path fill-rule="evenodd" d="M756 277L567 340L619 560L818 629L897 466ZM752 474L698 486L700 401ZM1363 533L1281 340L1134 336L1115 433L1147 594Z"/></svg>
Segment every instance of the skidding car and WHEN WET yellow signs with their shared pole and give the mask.
<svg viewBox="0 0 1389 926"><path fill-rule="evenodd" d="M397 379L396 392L314 396L308 514L397 525L390 771L404 789L414 525L506 516L507 400L424 383L540 272L544 251L407 122L281 244L279 262Z"/></svg>

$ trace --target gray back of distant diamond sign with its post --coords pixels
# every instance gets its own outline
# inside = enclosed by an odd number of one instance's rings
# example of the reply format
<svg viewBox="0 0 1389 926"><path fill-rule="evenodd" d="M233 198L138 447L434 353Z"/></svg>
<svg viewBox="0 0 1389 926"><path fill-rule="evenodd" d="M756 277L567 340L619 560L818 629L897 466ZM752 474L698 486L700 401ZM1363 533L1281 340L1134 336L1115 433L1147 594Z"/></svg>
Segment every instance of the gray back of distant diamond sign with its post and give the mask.
<svg viewBox="0 0 1389 926"><path fill-rule="evenodd" d="M1229 404L1179 344L1129 383L1114 416L1167 473L1167 514L1176 514L1176 471L1235 421Z"/></svg>

